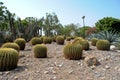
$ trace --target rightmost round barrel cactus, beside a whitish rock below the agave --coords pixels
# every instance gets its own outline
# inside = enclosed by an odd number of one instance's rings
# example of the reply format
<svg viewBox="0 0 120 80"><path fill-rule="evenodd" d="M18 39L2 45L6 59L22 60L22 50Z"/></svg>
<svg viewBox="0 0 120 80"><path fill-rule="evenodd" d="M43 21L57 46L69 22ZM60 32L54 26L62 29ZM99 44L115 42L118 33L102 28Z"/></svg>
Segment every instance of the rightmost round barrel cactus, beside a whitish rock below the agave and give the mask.
<svg viewBox="0 0 120 80"><path fill-rule="evenodd" d="M96 47L98 50L110 50L110 42L108 40L98 40Z"/></svg>

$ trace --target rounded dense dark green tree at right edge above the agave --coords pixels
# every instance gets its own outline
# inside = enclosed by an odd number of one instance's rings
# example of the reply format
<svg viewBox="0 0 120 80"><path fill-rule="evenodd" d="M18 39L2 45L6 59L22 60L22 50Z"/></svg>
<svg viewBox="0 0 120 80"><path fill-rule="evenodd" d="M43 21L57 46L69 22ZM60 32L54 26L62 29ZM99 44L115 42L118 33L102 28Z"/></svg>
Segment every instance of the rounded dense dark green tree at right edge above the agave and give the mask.
<svg viewBox="0 0 120 80"><path fill-rule="evenodd" d="M104 17L95 23L95 26L98 31L117 31L120 32L120 19L112 17Z"/></svg>

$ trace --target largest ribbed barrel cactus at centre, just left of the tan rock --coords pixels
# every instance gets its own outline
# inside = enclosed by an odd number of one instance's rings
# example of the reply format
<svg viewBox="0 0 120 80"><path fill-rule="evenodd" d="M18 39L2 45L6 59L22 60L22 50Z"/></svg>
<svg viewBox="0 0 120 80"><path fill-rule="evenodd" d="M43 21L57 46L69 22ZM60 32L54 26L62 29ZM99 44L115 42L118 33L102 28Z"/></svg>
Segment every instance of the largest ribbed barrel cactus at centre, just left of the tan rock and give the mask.
<svg viewBox="0 0 120 80"><path fill-rule="evenodd" d="M76 60L82 58L82 46L80 44L67 44L64 46L63 53L66 59Z"/></svg>

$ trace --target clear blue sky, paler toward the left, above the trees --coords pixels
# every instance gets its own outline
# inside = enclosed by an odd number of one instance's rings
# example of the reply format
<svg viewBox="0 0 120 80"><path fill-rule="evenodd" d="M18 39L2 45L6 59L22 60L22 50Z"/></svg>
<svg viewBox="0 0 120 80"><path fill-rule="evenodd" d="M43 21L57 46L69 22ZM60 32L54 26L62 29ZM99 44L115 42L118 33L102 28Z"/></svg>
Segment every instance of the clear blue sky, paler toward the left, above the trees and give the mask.
<svg viewBox="0 0 120 80"><path fill-rule="evenodd" d="M103 17L120 19L120 0L1 0L17 16L41 18L55 12L63 25L79 23L94 26Z"/></svg>

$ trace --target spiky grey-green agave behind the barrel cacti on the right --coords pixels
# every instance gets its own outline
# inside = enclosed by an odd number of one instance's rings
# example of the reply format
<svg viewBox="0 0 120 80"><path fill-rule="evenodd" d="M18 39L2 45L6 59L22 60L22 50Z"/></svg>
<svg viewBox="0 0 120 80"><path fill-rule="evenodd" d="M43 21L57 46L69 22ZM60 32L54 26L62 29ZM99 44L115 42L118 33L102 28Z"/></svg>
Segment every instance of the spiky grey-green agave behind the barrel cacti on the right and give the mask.
<svg viewBox="0 0 120 80"><path fill-rule="evenodd" d="M115 31L102 31L97 34L91 34L88 39L91 40L92 38L97 39L104 39L108 40L111 44L114 42L117 42L117 39L120 37L120 35Z"/></svg>

